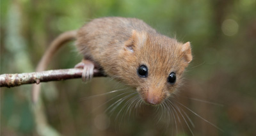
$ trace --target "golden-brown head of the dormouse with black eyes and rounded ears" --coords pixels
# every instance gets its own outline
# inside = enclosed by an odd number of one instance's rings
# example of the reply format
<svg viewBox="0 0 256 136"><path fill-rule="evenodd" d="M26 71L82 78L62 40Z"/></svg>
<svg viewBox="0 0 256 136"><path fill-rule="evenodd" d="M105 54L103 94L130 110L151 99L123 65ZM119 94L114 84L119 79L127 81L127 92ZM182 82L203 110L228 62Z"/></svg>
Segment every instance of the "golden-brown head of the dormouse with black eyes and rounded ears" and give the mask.
<svg viewBox="0 0 256 136"><path fill-rule="evenodd" d="M182 84L182 73L192 61L189 42L135 30L119 57L121 80L136 87L140 97L150 105L160 104L175 93Z"/></svg>

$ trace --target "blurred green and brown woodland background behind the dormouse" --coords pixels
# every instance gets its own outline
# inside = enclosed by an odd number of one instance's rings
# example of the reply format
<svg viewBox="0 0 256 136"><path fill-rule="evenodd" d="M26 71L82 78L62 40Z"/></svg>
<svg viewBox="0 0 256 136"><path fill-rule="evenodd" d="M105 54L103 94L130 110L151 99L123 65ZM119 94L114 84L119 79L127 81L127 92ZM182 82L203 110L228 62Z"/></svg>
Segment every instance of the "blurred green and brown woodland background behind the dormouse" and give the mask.
<svg viewBox="0 0 256 136"><path fill-rule="evenodd" d="M256 135L255 0L1 0L1 74L33 72L58 34L109 16L136 17L163 34L192 43L194 59L175 98L223 130L184 108L195 124L193 128L186 119L195 135ZM79 63L81 56L72 44L56 54L50 68ZM63 135L192 135L182 116L180 123L177 117L178 132L174 120L156 123L152 107L123 121L116 117L122 107L106 114L118 98L108 100L118 93L81 101L124 87L111 79L43 85L45 114ZM31 85L1 88L1 135L37 135L30 91Z"/></svg>

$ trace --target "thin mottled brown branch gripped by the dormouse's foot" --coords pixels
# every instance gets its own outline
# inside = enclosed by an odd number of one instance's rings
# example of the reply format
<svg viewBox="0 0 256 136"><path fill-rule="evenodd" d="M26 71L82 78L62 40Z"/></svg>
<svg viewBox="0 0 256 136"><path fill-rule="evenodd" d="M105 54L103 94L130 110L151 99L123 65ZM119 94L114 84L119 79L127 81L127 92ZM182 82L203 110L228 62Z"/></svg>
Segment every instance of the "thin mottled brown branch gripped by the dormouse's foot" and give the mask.
<svg viewBox="0 0 256 136"><path fill-rule="evenodd" d="M93 77L104 77L99 70L95 69ZM33 73L13 73L0 75L0 87L15 87L22 84L39 84L54 80L79 79L82 77L83 69L70 68L63 70L48 70Z"/></svg>

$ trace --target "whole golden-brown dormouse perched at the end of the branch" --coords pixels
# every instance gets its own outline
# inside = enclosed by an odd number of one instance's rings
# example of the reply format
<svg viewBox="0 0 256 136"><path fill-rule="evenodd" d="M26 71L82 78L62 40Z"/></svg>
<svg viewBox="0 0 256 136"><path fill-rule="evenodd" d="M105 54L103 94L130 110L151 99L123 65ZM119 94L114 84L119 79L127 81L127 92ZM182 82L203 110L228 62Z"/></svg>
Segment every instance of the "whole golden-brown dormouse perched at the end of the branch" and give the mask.
<svg viewBox="0 0 256 136"><path fill-rule="evenodd" d="M141 99L151 105L163 102L175 92L192 60L189 42L180 43L159 34L139 19L93 19L81 29L54 40L51 54L71 39L76 39L76 47L84 57L76 66L84 68L83 79L90 80L93 68L100 68L105 75L134 87ZM44 70L49 62L51 55L45 56L37 71Z"/></svg>

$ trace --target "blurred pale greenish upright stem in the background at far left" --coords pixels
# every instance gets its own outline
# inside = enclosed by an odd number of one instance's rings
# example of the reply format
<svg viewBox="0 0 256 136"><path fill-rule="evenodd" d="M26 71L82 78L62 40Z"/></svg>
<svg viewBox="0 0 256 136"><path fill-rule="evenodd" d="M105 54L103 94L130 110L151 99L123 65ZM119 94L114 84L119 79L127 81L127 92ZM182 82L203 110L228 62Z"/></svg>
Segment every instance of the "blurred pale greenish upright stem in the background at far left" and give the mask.
<svg viewBox="0 0 256 136"><path fill-rule="evenodd" d="M20 1L12 1L9 13L8 13L8 20L9 24L6 28L7 33L7 40L6 40L6 50L9 52L12 52L14 59L10 60L12 61L12 68L15 68L13 70L14 72L29 72L33 71L33 66L30 61L30 56L28 53L28 44L26 44L26 40L22 36L22 29L23 29L23 22L25 20L22 20L22 8L20 8ZM26 90L29 86L26 87ZM21 89L21 87L20 87ZM16 93L19 93L20 91L17 91ZM24 91L23 95L26 94L26 98L28 102L31 102L31 94L29 91ZM56 130L51 128L51 126L47 123L47 117L45 117L45 110L44 110L44 104L42 102L38 102L37 105L31 105L31 112L33 113L34 121L36 124L36 133L38 135L59 135Z"/></svg>

